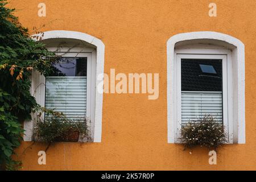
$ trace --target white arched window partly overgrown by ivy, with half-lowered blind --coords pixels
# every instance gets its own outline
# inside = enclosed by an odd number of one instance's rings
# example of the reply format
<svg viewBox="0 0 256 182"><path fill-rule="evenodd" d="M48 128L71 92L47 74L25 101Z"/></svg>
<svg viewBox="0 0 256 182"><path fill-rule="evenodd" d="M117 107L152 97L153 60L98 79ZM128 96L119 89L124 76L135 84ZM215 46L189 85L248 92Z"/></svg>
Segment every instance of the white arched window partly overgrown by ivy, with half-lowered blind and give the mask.
<svg viewBox="0 0 256 182"><path fill-rule="evenodd" d="M93 36L73 31L44 32L42 42L60 55L57 73L44 77L32 73L31 93L47 109L55 109L76 121L89 118L94 142L101 142L102 90L97 76L104 73L104 44ZM97 90L96 90L97 88ZM32 140L33 121L24 122L25 141ZM82 141L81 141L82 142Z"/></svg>

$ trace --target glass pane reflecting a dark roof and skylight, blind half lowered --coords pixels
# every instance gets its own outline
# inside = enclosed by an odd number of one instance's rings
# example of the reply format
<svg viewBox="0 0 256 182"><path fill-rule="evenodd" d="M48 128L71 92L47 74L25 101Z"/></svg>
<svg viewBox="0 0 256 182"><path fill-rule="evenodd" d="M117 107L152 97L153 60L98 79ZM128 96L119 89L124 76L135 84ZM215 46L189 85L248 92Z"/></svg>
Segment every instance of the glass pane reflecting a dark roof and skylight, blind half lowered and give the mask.
<svg viewBox="0 0 256 182"><path fill-rule="evenodd" d="M208 114L222 122L222 60L181 59L181 125Z"/></svg>

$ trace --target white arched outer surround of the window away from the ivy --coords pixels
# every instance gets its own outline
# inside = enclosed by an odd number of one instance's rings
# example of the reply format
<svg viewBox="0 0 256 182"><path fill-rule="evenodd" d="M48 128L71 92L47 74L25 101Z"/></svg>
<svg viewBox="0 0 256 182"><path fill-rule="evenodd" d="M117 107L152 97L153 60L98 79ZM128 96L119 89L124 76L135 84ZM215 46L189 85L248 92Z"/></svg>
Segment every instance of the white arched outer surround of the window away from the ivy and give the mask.
<svg viewBox="0 0 256 182"><path fill-rule="evenodd" d="M193 42L199 43L199 49L190 49L189 45ZM244 44L229 35L221 34L219 32L201 31L188 32L172 36L167 41L167 129L168 129L168 143L178 143L177 141L177 90L176 90L176 46L179 44L185 45L188 53L195 53L200 51L203 54L215 54L214 51L221 52L221 54L230 54L232 59L232 86L233 94L232 106L229 109L232 111L232 135L233 143L245 143L245 46ZM217 46L218 50L210 45ZM220 47L225 47L220 49ZM182 51L182 50L181 50ZM184 50L183 50L184 51ZM193 52L194 51L194 52ZM202 52L203 51L203 52ZM227 52L227 53L225 53ZM216 53L217 54L217 53ZM219 54L219 53L218 53Z"/></svg>

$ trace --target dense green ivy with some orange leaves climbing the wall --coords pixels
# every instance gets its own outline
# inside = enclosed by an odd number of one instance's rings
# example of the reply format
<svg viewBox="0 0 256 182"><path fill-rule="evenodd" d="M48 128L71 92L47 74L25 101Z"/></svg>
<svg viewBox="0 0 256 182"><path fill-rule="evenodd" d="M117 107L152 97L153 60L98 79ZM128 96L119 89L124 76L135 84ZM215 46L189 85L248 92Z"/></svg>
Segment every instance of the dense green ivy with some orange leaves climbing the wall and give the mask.
<svg viewBox="0 0 256 182"><path fill-rule="evenodd" d="M47 76L58 59L28 35L13 15L15 9L6 5L0 0L0 166L13 170L20 164L12 156L22 140L22 122L38 106L30 93L31 73Z"/></svg>

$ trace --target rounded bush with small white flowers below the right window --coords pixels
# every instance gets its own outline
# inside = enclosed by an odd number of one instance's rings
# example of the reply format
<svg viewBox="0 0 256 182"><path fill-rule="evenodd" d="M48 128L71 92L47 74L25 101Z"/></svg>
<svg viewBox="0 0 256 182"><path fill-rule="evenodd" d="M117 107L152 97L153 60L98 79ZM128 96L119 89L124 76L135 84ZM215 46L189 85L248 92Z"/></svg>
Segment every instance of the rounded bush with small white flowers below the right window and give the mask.
<svg viewBox="0 0 256 182"><path fill-rule="evenodd" d="M204 118L190 121L181 127L180 142L185 148L201 146L217 150L228 142L228 135L222 123L216 122L211 115L205 115Z"/></svg>

